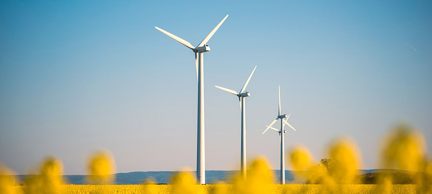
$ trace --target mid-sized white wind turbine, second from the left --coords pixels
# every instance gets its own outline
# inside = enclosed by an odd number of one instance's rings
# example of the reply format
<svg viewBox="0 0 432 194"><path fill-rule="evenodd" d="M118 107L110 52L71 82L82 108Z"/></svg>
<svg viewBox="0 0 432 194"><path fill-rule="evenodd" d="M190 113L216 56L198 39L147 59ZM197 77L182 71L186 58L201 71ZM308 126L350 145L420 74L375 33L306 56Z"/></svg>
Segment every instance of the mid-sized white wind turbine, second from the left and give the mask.
<svg viewBox="0 0 432 194"><path fill-rule="evenodd" d="M252 70L251 75L249 75L248 80L246 80L245 85L243 85L243 88L241 88L241 90L239 92L215 85L216 88L219 88L223 91L227 91L231 94L238 96L238 100L240 101L240 109L241 109L240 174L241 174L242 178L246 178L246 110L245 110L246 103L245 103L245 97L251 96L251 94L249 94L248 91L245 92L245 90L246 90L246 87L248 86L249 81L251 80L252 75L254 75L255 69L257 69L257 66L254 67L254 70Z"/></svg>

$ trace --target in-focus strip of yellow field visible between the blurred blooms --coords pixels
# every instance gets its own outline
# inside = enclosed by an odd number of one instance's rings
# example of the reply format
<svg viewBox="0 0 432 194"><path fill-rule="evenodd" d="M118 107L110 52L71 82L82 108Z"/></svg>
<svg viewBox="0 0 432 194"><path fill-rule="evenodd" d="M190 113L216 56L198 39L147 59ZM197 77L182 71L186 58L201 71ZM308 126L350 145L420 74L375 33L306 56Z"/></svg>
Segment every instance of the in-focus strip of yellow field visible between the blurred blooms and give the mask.
<svg viewBox="0 0 432 194"><path fill-rule="evenodd" d="M25 186L11 186L16 194L22 193ZM174 185L63 185L64 194L170 194ZM197 194L235 194L234 185L194 185ZM268 194L318 194L323 193L323 185L288 184L265 185ZM346 194L381 193L380 185L340 185ZM185 194L191 192L185 192ZM324 192L325 193L325 192ZM414 194L416 185L392 185L389 194Z"/></svg>

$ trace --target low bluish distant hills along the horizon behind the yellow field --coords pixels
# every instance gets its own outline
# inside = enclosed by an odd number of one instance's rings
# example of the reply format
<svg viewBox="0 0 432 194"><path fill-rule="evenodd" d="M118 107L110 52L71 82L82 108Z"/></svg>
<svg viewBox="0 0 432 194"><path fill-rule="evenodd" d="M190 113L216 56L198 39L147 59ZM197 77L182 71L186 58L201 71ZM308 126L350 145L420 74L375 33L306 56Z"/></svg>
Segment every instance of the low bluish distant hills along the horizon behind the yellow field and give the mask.
<svg viewBox="0 0 432 194"><path fill-rule="evenodd" d="M359 174L378 172L379 169L360 170ZM115 180L117 185L136 185L142 184L147 178L154 178L158 184L165 184L169 182L169 178L176 171L149 171L149 172L127 172L115 174ZM273 170L276 178L276 182L279 182L280 170ZM290 170L285 171L286 181L293 181L293 172ZM192 172L195 174L195 172ZM233 175L238 171L233 170L207 170L206 171L206 183L212 184L217 181L229 181ZM18 175L20 180L24 180L27 175ZM64 175L67 183L73 185L85 185L86 175Z"/></svg>

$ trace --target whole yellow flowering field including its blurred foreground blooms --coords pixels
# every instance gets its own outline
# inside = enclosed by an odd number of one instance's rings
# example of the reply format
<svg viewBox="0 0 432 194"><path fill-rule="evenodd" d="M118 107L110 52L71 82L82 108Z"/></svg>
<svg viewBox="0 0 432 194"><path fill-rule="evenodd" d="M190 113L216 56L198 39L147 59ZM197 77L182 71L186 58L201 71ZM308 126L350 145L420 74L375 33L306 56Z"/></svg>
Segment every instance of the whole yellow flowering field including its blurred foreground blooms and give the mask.
<svg viewBox="0 0 432 194"><path fill-rule="evenodd" d="M398 126L383 142L381 167L404 170L405 176L393 176L382 170L373 185L360 184L359 148L349 139L340 139L329 144L326 153L329 159L324 163L317 163L306 147L288 151L295 181L307 184L274 184L271 166L264 157L258 157L249 164L247 177L239 174L215 185L197 185L191 171L174 173L170 185L156 185L151 178L142 185L113 185L114 158L105 151L89 157L86 180L89 185L67 185L63 163L55 157L45 158L22 182L16 181L13 170L0 165L0 194L431 194L432 160L427 156L422 135L407 126ZM406 178L415 185L397 185L398 179Z"/></svg>

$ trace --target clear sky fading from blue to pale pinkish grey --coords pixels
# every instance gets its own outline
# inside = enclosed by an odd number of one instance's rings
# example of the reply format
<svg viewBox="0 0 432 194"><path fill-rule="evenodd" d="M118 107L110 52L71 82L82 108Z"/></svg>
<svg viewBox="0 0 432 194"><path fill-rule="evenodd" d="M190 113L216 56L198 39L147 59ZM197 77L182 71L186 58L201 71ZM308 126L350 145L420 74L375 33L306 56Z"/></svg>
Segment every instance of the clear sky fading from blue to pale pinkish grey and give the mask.
<svg viewBox="0 0 432 194"><path fill-rule="evenodd" d="M87 156L106 148L118 172L195 169L194 53L154 26L197 45L226 14L204 55L207 170L240 166L238 100L214 85L238 91L255 65L249 159L279 169L277 133L261 135L277 116L279 84L297 129L287 150L303 144L319 160L349 136L373 169L380 139L407 122L431 153L431 1L7 0L0 161L23 173L54 155L66 174L83 174Z"/></svg>

